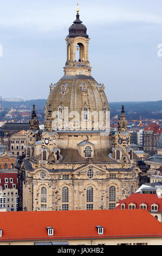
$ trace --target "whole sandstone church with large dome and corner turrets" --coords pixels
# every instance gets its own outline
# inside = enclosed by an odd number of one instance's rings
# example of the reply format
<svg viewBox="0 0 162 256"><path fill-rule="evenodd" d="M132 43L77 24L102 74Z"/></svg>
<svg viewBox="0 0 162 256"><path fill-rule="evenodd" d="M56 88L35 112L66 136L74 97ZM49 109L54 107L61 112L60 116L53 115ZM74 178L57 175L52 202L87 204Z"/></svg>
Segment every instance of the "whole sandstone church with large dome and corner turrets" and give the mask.
<svg viewBox="0 0 162 256"><path fill-rule="evenodd" d="M89 38L81 23L77 13L66 38L64 76L50 86L43 132L35 108L31 115L18 170L19 210L113 209L139 186L124 106L118 130L111 132L104 86L90 75Z"/></svg>

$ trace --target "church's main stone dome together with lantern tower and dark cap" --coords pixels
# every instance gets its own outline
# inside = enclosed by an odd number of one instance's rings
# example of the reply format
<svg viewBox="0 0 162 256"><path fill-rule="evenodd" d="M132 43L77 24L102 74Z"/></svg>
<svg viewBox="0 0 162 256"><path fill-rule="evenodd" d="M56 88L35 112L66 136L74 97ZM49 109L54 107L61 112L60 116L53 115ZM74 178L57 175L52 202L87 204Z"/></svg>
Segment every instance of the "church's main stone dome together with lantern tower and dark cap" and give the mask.
<svg viewBox="0 0 162 256"><path fill-rule="evenodd" d="M52 111L54 130L109 130L109 106L103 84L91 76L87 28L79 19L69 28L64 76L51 84L45 107ZM76 60L77 51L79 59Z"/></svg>

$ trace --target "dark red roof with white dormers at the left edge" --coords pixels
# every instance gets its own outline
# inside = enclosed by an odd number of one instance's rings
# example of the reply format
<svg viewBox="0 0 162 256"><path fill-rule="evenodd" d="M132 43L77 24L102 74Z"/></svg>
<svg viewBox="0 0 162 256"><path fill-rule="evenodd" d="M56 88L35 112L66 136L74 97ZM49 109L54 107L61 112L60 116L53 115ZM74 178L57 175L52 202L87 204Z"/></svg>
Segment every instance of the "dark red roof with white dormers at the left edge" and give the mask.
<svg viewBox="0 0 162 256"><path fill-rule="evenodd" d="M5 178L8 178L8 183L5 182ZM10 182L10 178L13 179L13 182ZM5 189L4 184L8 184L8 188L13 188L12 184L16 185L16 189L18 188L17 184L17 173L0 173L0 187L2 186L3 190Z"/></svg>

